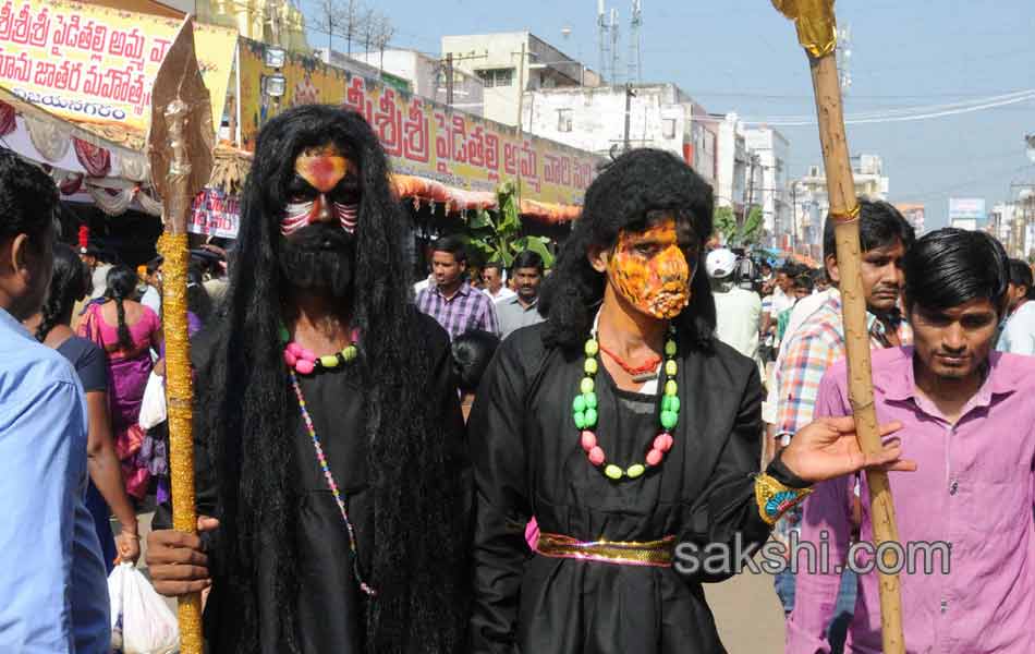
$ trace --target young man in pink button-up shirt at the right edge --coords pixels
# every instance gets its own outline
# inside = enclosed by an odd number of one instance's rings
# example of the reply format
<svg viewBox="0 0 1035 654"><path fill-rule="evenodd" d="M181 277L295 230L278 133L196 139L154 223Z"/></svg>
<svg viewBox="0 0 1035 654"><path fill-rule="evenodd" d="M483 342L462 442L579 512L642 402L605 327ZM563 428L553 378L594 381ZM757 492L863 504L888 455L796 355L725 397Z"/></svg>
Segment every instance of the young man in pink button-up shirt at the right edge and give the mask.
<svg viewBox="0 0 1035 654"><path fill-rule="evenodd" d="M904 259L914 346L873 353L880 423L902 428L917 471L890 473L909 652L1035 652L1035 359L993 351L1006 308L1002 246L983 232L943 229ZM820 383L817 416L849 415L844 362ZM835 566L872 566L868 488L862 480L862 545L849 548L853 481L816 486L804 505L799 548L829 543L829 559L800 570L787 652L830 651ZM821 552L821 549L820 549ZM891 557L896 558L894 556ZM860 570L864 571L864 570ZM877 573L860 576L845 652L879 653Z"/></svg>

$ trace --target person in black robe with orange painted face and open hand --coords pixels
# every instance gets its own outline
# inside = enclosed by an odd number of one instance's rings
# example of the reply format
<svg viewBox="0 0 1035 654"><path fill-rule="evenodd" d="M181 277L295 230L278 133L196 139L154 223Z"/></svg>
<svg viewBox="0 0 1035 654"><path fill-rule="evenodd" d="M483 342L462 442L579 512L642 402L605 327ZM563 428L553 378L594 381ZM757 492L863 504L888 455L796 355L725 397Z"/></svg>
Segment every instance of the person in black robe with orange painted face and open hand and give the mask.
<svg viewBox="0 0 1035 654"><path fill-rule="evenodd" d="M547 322L500 347L467 425L474 654L722 652L701 584L738 572L738 542L760 546L813 482L910 468L897 443L862 455L848 417L758 474L758 370L714 338L698 270L711 213L682 160L619 157L547 278Z"/></svg>

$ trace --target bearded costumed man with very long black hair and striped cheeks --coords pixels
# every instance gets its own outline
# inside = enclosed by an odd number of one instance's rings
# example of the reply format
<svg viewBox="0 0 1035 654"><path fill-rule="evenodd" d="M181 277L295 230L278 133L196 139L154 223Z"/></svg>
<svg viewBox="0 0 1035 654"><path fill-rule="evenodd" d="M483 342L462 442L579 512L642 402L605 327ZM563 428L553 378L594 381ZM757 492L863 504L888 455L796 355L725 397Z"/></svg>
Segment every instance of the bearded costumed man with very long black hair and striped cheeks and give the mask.
<svg viewBox="0 0 1035 654"><path fill-rule="evenodd" d="M194 348L209 518L202 538L148 538L159 592L211 586L212 652L463 646L463 422L449 338L394 274L404 238L358 113L304 106L266 125L223 310Z"/></svg>

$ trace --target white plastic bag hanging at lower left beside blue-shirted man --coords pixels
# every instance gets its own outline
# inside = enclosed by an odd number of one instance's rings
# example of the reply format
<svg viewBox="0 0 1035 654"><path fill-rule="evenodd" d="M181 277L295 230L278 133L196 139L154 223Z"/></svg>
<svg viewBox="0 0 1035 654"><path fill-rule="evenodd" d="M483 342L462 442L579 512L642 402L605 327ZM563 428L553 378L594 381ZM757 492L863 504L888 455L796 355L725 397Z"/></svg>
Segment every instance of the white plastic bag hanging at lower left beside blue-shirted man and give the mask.
<svg viewBox="0 0 1035 654"><path fill-rule="evenodd" d="M133 564L119 564L108 577L111 647L122 654L174 654L180 627L165 598Z"/></svg>

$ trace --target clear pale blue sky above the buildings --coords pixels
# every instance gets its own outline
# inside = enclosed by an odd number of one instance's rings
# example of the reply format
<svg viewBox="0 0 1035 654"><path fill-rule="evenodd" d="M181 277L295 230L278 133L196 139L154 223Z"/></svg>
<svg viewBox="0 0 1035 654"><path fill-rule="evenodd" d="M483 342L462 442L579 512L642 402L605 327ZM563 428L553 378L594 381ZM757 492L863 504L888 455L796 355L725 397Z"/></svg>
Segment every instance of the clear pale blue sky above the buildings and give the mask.
<svg viewBox="0 0 1035 654"><path fill-rule="evenodd" d="M342 0L345 2L346 0ZM631 0L619 10L626 49ZM597 0L378 0L394 45L439 53L439 37L528 29L597 68ZM303 0L304 10L315 0ZM841 0L852 31L847 112L945 105L1035 88L1032 0ZM561 31L571 28L567 39ZM644 0L645 82L674 82L711 112L750 119L814 112L812 83L793 26L768 0ZM315 45L326 36L313 35ZM344 43L336 48L344 50ZM820 164L815 126L781 128L790 174ZM1035 102L917 122L849 126L853 154L884 157L894 202L922 202L927 226L945 225L948 198L1007 199L1035 182L1023 136Z"/></svg>

